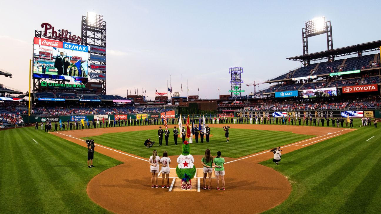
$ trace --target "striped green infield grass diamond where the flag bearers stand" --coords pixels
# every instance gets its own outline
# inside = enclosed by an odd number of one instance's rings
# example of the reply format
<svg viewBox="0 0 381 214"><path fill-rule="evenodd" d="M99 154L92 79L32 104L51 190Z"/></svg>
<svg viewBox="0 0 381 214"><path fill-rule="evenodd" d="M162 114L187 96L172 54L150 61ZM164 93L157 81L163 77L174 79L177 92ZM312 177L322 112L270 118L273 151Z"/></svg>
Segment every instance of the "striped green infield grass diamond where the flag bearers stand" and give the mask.
<svg viewBox="0 0 381 214"><path fill-rule="evenodd" d="M200 138L199 143L196 143L195 138L193 138L193 144L191 145L192 155L203 155L205 149L210 149L213 155L216 155L217 151L221 151L224 157L238 158L314 137L286 131L229 129L229 142L225 142L226 137L223 128L210 128L210 133L213 136L210 137L209 143L206 142L205 137L203 143L201 143ZM155 144L151 148L146 148L144 141L149 137L151 141L155 141ZM180 137L178 138L178 144L174 145L173 133L171 133L168 146L165 146L165 139L163 139L163 145L160 146L157 130L108 133L93 137L89 136L88 138L94 139L98 144L144 158L149 158L152 155L152 150L157 150L159 155L162 155L164 151L167 151L168 155L181 154L182 140ZM83 139L86 138L84 137Z"/></svg>

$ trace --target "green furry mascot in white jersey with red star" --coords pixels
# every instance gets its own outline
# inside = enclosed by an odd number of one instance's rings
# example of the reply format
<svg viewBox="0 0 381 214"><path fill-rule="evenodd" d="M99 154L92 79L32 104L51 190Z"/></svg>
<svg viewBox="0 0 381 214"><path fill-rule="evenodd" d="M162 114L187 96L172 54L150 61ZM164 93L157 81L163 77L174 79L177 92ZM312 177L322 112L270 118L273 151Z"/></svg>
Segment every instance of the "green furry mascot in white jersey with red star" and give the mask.
<svg viewBox="0 0 381 214"><path fill-rule="evenodd" d="M191 147L188 141L182 144L182 154L177 158L178 166L176 167L176 174L181 179L181 189L191 190L191 179L196 174L196 167L194 166L194 158L189 155Z"/></svg>

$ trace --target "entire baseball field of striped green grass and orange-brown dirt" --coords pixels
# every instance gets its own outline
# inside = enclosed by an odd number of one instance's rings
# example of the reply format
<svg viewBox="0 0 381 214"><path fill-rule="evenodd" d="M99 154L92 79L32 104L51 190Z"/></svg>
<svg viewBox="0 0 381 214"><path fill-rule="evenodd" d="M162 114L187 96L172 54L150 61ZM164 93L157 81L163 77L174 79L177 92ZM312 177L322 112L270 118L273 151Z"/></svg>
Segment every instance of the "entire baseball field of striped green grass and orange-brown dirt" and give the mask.
<svg viewBox="0 0 381 214"><path fill-rule="evenodd" d="M171 168L181 154L172 133L168 146L158 145L158 126L0 131L0 212L174 213L186 203L195 213L215 206L219 213L379 213L381 137L379 128L360 125L359 119L354 128L235 124L229 143L223 125L210 125L210 142L194 140L191 154L201 169L205 149L222 152L225 191L216 190L215 180L212 190L200 189L200 170L192 190L179 190L172 171L170 189L150 188L152 150L167 151ZM91 169L86 137L96 142ZM152 148L143 145L149 137ZM279 146L282 161L275 165L268 151Z"/></svg>

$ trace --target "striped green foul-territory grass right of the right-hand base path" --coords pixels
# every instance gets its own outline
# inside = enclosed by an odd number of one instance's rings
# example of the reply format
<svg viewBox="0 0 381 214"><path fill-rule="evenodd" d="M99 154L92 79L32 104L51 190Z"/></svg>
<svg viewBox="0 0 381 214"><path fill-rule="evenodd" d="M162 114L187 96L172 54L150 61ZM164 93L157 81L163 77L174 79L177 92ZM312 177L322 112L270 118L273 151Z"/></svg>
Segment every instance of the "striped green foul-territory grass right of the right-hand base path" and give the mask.
<svg viewBox="0 0 381 214"><path fill-rule="evenodd" d="M279 165L262 162L292 185L288 199L264 213L380 213L380 128L357 129L287 153Z"/></svg>

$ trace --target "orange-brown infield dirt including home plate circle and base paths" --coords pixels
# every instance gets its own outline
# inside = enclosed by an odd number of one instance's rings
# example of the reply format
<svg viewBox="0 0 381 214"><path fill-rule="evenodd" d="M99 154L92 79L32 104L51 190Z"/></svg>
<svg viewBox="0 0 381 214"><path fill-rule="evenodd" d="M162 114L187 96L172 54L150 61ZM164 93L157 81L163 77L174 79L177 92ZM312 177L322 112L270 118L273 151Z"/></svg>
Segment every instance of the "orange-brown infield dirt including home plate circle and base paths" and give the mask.
<svg viewBox="0 0 381 214"><path fill-rule="evenodd" d="M209 126L220 128L221 125L210 124ZM229 126L241 129L291 131L296 134L317 136L282 146L282 154L355 130L298 125L229 124ZM157 126L82 129L52 134L86 146L81 137L149 129L157 129ZM282 203L291 192L291 185L286 177L274 169L258 164L273 158L272 153L268 151L241 158L225 158L225 191L216 190L215 179L212 180L211 190L203 190L202 178L198 179L202 177L199 172L197 178L192 179L194 188L192 190L178 191L179 182L174 178L170 178L170 185L172 185L170 189L150 188L151 175L147 158L99 144L97 152L124 162L101 172L90 180L87 186L88 195L95 203L116 213L152 213L153 211L179 213L184 211L184 206L187 211L193 213L213 212L213 210L218 210L219 213L258 213ZM196 168L202 168L201 156L193 156ZM170 158L171 168L175 168L177 156L170 156ZM158 184L161 184L161 177L158 178ZM201 188L198 189L198 186Z"/></svg>

